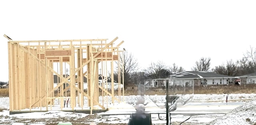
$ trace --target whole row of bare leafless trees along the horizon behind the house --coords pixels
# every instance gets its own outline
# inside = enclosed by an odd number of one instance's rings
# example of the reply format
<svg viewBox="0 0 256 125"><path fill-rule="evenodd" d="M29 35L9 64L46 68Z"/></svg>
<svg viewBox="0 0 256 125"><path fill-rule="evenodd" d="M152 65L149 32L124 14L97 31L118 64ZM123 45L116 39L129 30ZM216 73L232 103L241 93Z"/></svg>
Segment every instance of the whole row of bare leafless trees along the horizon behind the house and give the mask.
<svg viewBox="0 0 256 125"><path fill-rule="evenodd" d="M137 59L134 58L132 53L125 51L123 55L120 56L121 63L120 65L124 65L124 84L127 85L129 83L138 84L143 82L144 79L158 79L165 78L170 74L179 73L184 71L182 66L176 65L173 63L172 65L166 65L166 63L162 61L151 62L150 65L142 69L142 71L138 72L138 62ZM212 69L211 66L211 58L202 57L200 60L195 62L194 67L191 68L192 71L210 71L222 75L230 75L230 76L238 76L249 73L256 72L256 49L250 46L250 50L246 51L244 57L240 60L228 60L226 63L222 63ZM118 64L118 63L117 63ZM122 72L123 68L120 66L120 70ZM114 79L117 81L117 71ZM122 83L122 81L121 81Z"/></svg>

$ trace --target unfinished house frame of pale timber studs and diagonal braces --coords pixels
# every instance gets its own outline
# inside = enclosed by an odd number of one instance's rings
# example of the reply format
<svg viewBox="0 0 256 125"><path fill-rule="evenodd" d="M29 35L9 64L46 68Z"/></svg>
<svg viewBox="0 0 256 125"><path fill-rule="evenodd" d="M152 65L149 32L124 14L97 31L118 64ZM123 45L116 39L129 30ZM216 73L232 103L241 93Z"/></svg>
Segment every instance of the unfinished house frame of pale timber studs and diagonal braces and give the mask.
<svg viewBox="0 0 256 125"><path fill-rule="evenodd" d="M124 41L114 46L117 39L118 37L109 43L107 43L108 39L10 40L8 42L10 111L22 109L32 111L34 108L40 108L40 111L52 110L55 99L60 99L60 109L63 110L66 98L70 99L71 110L79 107L83 110L84 99L87 98L87 106L92 113L94 107L105 109L105 100L99 102L100 91L102 97L110 96L112 103L120 102L120 96L124 95L124 89L120 89L120 81L124 78L120 78L121 72L118 71L119 87L118 94L115 94L114 61L118 61L118 69L120 69L119 56L122 51L119 51L119 46ZM59 64L57 70L55 63ZM63 63L69 65L70 74L66 77ZM105 79L110 74L112 89L109 91L103 87L103 82L102 86L99 85L99 67L100 74ZM54 87L54 75L60 79L56 87ZM84 92L84 77L88 83L87 92ZM68 86L63 87L64 84ZM57 94L54 93L56 90ZM67 91L70 91L69 97L65 96Z"/></svg>

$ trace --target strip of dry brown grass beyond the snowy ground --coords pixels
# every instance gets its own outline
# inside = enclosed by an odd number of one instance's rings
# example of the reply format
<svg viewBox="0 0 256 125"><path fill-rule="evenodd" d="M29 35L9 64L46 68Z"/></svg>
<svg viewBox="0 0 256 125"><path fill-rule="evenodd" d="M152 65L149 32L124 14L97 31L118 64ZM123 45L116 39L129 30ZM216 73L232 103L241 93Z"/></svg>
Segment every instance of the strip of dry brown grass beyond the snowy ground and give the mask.
<svg viewBox="0 0 256 125"><path fill-rule="evenodd" d="M134 87L136 88L136 87ZM85 91L86 92L86 91ZM58 92L56 91L55 94ZM87 93L87 92L86 92ZM115 95L118 91L115 91ZM123 93L121 91L121 93ZM176 94L192 94L192 87L175 87L169 89L170 95ZM207 87L194 87L194 94L238 94L238 93L256 93L256 84L244 84L241 86L236 85L208 85ZM66 94L64 94L66 95ZM70 93L67 92L67 96ZM101 92L100 92L101 95ZM124 90L124 95L138 95L137 89ZM166 95L166 89L162 88L149 88L146 90L145 95ZM9 89L0 89L0 97L9 97Z"/></svg>

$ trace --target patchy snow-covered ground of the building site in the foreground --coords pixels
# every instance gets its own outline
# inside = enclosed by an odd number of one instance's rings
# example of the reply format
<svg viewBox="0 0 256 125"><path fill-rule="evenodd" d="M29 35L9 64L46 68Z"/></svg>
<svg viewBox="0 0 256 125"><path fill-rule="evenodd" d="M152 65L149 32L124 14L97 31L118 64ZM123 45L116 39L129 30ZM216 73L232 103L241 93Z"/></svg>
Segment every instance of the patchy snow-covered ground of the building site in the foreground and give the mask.
<svg viewBox="0 0 256 125"><path fill-rule="evenodd" d="M194 95L178 95L177 109L171 112L171 121L173 125L178 125L182 121L186 122L182 125L254 125L256 124L256 94L229 94L228 103L226 103L225 94L194 94ZM152 108L156 105L164 105L166 96L163 95L146 95L146 111L164 112L164 108ZM125 96L125 102L110 107L105 113L92 115L83 113L70 113L64 111L47 111L9 115L8 110L0 112L0 125L46 125L63 121L69 121L73 124L127 124L130 115L106 115L107 113L127 113L135 111L132 104L137 100L138 96ZM151 108L150 108L151 107ZM0 109L9 109L9 97L0 97ZM186 113L203 113L203 112L225 112L226 114L208 114L208 115L186 115ZM182 112L184 114L174 114ZM105 115L104 115L105 114ZM159 119L163 118L163 120ZM152 114L153 124L165 124L165 114Z"/></svg>

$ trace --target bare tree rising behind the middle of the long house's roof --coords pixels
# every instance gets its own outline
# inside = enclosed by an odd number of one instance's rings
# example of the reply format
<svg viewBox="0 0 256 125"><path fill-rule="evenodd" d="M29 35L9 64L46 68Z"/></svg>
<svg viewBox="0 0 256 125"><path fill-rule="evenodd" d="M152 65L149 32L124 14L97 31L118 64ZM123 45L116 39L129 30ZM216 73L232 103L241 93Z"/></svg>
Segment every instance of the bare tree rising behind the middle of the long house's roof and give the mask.
<svg viewBox="0 0 256 125"><path fill-rule="evenodd" d="M211 58L202 57L200 61L196 61L196 65L191 68L192 71L209 71Z"/></svg>

